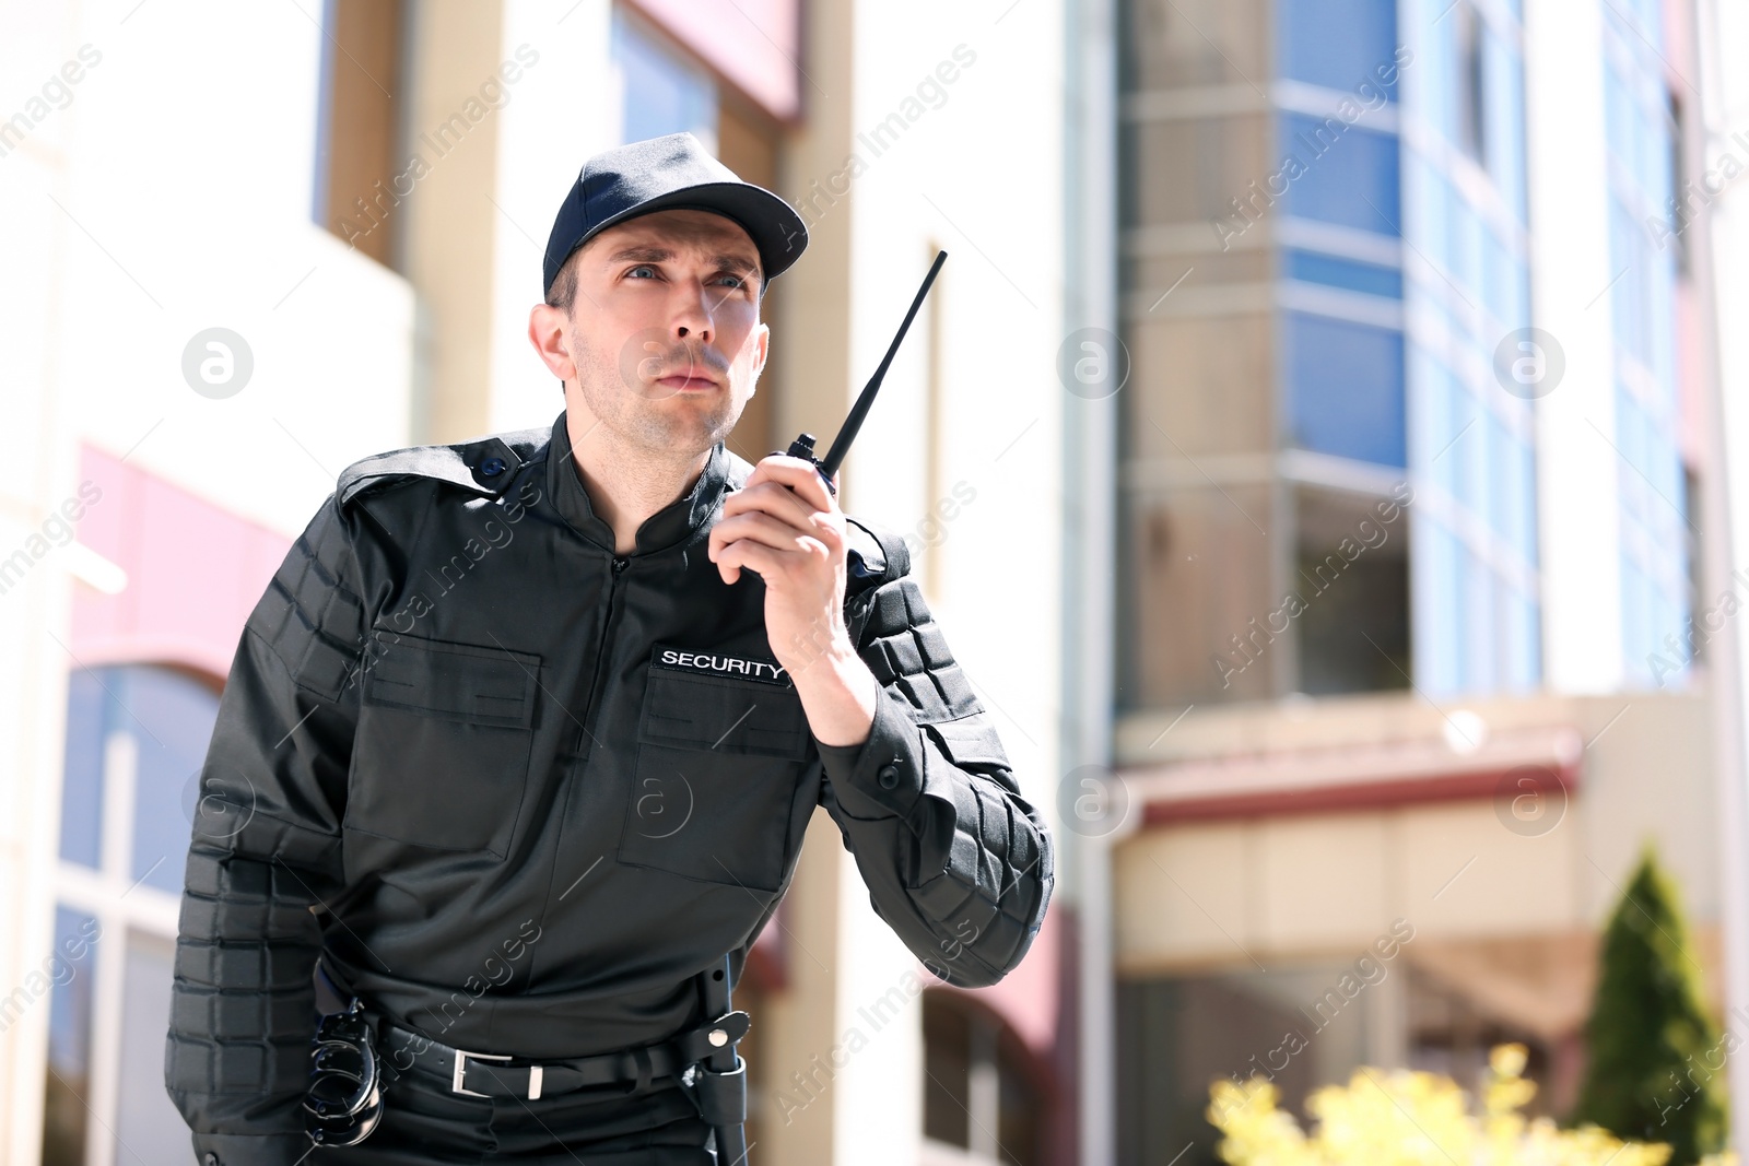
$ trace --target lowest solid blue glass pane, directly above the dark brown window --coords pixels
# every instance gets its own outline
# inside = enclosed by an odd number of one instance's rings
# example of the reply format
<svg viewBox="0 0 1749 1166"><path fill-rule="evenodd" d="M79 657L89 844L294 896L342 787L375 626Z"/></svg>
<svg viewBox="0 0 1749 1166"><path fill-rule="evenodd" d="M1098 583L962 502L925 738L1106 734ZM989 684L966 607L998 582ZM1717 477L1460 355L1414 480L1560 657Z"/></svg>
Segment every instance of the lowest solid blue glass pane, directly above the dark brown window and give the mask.
<svg viewBox="0 0 1749 1166"><path fill-rule="evenodd" d="M1284 313L1289 441L1301 449L1404 465L1403 334Z"/></svg>

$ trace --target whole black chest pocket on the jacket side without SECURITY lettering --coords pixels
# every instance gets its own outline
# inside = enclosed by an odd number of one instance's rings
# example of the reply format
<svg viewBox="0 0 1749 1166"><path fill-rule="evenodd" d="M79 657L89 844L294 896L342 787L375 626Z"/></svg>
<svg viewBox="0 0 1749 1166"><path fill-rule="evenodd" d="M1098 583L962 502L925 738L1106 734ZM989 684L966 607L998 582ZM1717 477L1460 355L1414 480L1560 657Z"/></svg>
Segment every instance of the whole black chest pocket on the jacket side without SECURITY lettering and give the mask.
<svg viewBox="0 0 1749 1166"><path fill-rule="evenodd" d="M540 657L385 638L366 675L348 830L502 858L523 804Z"/></svg>

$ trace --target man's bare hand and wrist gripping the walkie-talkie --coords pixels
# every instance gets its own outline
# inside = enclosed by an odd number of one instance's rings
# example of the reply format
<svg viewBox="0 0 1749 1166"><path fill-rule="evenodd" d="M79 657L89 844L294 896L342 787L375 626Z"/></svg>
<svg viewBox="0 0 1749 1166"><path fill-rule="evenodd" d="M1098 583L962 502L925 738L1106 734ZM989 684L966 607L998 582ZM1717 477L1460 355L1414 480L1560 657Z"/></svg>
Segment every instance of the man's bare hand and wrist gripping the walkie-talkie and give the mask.
<svg viewBox="0 0 1749 1166"><path fill-rule="evenodd" d="M812 462L775 453L722 502L710 561L733 584L752 570L766 586L766 638L822 745L861 745L880 682L845 628L845 512Z"/></svg>

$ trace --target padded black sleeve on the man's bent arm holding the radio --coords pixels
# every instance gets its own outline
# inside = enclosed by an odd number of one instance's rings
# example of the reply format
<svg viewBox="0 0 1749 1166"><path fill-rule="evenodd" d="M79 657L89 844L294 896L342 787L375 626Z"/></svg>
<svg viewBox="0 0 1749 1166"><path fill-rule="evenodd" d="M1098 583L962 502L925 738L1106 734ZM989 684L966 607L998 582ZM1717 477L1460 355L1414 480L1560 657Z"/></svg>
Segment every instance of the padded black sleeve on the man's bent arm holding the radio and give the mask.
<svg viewBox="0 0 1749 1166"><path fill-rule="evenodd" d="M1011 972L1055 886L1051 836L916 582L866 591L847 624L881 684L861 745L817 745L820 802L874 913L923 967L960 988Z"/></svg>

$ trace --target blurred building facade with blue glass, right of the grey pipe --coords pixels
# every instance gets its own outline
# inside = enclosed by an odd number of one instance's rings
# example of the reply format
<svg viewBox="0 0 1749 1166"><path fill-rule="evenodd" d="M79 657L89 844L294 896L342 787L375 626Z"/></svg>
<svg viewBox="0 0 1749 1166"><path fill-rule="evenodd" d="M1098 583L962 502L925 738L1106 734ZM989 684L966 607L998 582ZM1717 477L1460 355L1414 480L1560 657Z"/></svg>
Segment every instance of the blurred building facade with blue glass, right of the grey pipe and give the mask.
<svg viewBox="0 0 1749 1166"><path fill-rule="evenodd" d="M1473 1082L1509 1038L1564 1114L1646 843L1721 1000L1714 325L1658 229L1693 17L1118 28L1109 1161L1216 1161L1217 1077L1298 1108L1362 1063Z"/></svg>

